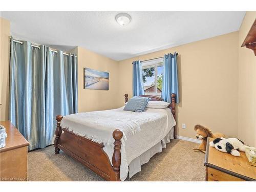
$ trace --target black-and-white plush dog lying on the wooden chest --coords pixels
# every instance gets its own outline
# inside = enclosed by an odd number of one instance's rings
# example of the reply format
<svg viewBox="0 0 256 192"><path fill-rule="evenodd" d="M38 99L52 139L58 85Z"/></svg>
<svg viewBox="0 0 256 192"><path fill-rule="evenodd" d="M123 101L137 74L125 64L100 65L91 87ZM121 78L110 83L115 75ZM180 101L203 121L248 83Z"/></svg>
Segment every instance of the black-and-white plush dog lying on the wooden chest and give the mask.
<svg viewBox="0 0 256 192"><path fill-rule="evenodd" d="M210 146L215 147L216 150L224 152L224 153L230 153L233 156L240 156L239 151L245 152L246 148L249 148L250 150L254 150L254 147L250 147L247 145L244 145L244 142L240 141L237 138L216 138L215 140L210 142ZM238 151L239 150L239 151Z"/></svg>

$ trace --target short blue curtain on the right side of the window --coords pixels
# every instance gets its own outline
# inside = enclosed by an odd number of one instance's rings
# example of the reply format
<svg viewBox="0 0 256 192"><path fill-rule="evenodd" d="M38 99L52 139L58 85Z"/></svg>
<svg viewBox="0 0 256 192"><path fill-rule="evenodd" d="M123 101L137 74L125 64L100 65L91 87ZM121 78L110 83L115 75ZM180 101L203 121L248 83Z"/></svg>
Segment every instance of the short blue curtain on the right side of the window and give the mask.
<svg viewBox="0 0 256 192"><path fill-rule="evenodd" d="M179 84L177 69L177 54L164 55L163 59L163 87L162 98L166 102L170 102L170 94L176 94L176 102L179 103Z"/></svg>

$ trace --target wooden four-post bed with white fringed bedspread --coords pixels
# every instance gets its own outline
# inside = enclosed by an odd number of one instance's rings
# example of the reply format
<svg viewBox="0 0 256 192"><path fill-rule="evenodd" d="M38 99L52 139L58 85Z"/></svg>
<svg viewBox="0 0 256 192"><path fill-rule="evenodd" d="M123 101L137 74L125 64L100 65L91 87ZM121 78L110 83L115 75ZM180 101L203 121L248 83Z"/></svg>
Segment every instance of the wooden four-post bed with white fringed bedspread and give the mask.
<svg viewBox="0 0 256 192"><path fill-rule="evenodd" d="M124 96L127 102L128 95ZM152 95L141 97L162 100ZM161 152L164 147L161 145L176 139L175 97L171 95L168 108L147 109L143 113L125 112L119 108L65 117L57 115L55 154L62 150L104 180L123 181L128 173L131 177L141 164Z"/></svg>

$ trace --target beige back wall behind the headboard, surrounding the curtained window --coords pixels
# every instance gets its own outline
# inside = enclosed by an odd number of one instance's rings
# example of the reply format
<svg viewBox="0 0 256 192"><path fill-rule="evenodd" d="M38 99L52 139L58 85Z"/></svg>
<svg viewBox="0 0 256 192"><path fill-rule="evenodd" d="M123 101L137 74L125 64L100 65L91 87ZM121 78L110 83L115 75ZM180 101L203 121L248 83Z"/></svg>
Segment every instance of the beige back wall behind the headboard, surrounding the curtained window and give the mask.
<svg viewBox="0 0 256 192"><path fill-rule="evenodd" d="M195 138L200 123L228 137L238 135L238 32L119 61L119 92L132 96L132 61L177 51L180 103L178 135ZM186 123L186 129L181 124Z"/></svg>

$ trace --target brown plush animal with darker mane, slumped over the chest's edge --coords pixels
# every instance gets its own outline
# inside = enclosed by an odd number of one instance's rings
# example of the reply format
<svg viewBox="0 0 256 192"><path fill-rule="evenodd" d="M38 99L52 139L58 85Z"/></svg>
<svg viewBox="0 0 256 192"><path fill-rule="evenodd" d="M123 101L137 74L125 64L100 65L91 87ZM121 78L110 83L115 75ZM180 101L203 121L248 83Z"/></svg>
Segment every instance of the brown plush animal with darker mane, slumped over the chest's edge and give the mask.
<svg viewBox="0 0 256 192"><path fill-rule="evenodd" d="M202 125L195 125L195 131L197 132L197 139L201 139L202 142L199 145L198 148L193 148L194 151L201 151L203 153L205 153L206 150L206 142L207 142L207 137L211 137L211 138L221 138L224 137L225 135L222 133L211 133L211 131L207 128L204 127Z"/></svg>

